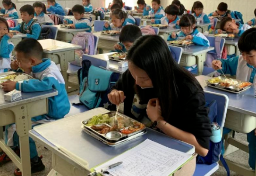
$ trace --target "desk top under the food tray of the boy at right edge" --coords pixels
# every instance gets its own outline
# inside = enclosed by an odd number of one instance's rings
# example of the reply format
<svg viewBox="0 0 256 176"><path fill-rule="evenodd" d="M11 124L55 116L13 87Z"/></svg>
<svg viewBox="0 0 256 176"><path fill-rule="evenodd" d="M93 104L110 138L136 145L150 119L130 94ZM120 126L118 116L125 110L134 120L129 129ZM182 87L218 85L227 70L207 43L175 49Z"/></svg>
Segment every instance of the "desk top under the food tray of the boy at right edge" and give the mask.
<svg viewBox="0 0 256 176"><path fill-rule="evenodd" d="M229 97L228 109L251 116L256 116L256 98L254 97L254 88L250 88L249 90L240 94L232 94L226 91L206 86L205 80L208 80L210 78L211 77L204 75L196 76L196 79L199 81L204 90L225 94Z"/></svg>

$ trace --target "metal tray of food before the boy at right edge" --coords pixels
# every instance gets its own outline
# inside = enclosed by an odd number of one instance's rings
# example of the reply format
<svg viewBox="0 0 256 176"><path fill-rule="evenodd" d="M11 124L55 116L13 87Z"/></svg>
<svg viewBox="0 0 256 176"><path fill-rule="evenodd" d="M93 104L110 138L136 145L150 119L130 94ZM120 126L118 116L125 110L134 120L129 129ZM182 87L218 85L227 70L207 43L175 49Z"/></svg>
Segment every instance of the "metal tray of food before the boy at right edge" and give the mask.
<svg viewBox="0 0 256 176"><path fill-rule="evenodd" d="M250 82L226 78L222 76L206 80L205 82L207 86L218 88L232 93L240 93L252 86L252 83Z"/></svg>

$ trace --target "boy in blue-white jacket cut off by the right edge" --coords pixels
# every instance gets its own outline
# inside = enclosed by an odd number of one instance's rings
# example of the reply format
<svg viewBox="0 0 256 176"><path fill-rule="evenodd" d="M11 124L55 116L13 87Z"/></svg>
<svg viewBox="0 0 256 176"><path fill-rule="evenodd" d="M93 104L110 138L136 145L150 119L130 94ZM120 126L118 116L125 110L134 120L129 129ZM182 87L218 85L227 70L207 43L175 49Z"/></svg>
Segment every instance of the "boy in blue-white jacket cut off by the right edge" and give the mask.
<svg viewBox="0 0 256 176"><path fill-rule="evenodd" d="M222 69L224 74L236 75L236 79L253 83L256 86L256 28L245 31L238 41L240 56L230 59L220 59L213 61L213 69ZM221 73L221 72L220 72ZM252 95L253 96L253 95ZM247 134L249 142L249 166L255 169L256 159L256 131Z"/></svg>

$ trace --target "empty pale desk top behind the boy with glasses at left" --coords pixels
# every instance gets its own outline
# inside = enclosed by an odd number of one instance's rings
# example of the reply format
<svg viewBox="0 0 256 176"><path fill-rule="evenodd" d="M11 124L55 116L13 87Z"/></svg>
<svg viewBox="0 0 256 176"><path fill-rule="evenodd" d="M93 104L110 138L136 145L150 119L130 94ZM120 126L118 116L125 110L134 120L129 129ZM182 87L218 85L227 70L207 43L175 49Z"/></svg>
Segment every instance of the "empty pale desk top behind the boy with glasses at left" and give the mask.
<svg viewBox="0 0 256 176"><path fill-rule="evenodd" d="M70 43L66 43L58 40L52 40L52 39L38 40L38 42L42 45L44 53L55 53L55 52L69 51L69 50L82 48L79 45L74 45L74 44L70 44Z"/></svg>

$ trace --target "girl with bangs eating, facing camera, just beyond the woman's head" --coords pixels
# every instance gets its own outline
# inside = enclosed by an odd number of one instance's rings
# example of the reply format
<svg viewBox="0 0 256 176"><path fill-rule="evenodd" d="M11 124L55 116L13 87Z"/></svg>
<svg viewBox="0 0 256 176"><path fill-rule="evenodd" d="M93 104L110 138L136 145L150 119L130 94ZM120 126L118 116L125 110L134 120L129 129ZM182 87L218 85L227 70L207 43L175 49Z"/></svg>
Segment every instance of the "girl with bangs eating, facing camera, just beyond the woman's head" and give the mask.
<svg viewBox="0 0 256 176"><path fill-rule="evenodd" d="M209 40L205 37L204 34L198 32L196 29L196 18L191 14L183 15L180 18L179 26L181 31L177 34L172 32L168 38L169 40L177 40L179 37L185 37L186 40L191 40L196 45L201 46L210 46Z"/></svg>

